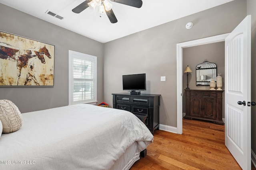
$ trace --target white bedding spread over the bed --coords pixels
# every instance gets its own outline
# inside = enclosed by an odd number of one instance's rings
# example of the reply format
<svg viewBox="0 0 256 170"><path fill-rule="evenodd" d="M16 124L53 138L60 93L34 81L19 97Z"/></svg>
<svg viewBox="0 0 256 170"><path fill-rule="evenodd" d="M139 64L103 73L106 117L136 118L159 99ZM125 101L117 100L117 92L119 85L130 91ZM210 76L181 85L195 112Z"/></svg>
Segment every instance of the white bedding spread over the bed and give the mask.
<svg viewBox="0 0 256 170"><path fill-rule="evenodd" d="M153 141L142 121L119 109L79 104L22 117L18 131L0 138L1 170L129 169ZM122 161L129 147L137 150L134 160Z"/></svg>

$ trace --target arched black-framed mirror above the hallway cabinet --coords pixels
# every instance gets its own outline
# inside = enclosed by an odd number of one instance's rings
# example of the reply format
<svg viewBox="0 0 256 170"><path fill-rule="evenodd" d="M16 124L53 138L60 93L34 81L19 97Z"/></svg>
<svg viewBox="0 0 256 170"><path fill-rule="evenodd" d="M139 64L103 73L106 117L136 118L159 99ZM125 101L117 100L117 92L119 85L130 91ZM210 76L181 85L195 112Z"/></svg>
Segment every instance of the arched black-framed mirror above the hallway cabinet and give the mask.
<svg viewBox="0 0 256 170"><path fill-rule="evenodd" d="M212 79L216 81L217 66L205 60L196 66L196 86L210 86Z"/></svg>

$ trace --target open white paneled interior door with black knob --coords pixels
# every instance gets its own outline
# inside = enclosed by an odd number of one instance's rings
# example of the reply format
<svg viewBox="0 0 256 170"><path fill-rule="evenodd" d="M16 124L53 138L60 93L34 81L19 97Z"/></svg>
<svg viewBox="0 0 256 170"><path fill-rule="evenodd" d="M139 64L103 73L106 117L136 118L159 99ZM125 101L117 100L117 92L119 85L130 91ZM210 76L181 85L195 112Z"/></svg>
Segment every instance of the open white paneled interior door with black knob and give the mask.
<svg viewBox="0 0 256 170"><path fill-rule="evenodd" d="M251 169L248 102L251 102L251 16L225 39L225 145L243 170Z"/></svg>

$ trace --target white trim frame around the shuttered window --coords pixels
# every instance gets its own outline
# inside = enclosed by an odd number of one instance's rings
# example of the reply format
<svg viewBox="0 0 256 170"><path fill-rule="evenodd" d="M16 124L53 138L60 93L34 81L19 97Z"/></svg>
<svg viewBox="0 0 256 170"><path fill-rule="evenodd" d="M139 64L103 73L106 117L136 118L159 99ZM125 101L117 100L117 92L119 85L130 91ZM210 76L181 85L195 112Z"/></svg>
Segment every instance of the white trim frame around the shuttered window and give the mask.
<svg viewBox="0 0 256 170"><path fill-rule="evenodd" d="M74 58L80 58L84 60L93 61L94 64L94 97L90 100L80 100L74 101ZM76 51L68 50L68 105L73 104L96 104L97 102L97 57L93 55L88 55L84 53L79 53Z"/></svg>

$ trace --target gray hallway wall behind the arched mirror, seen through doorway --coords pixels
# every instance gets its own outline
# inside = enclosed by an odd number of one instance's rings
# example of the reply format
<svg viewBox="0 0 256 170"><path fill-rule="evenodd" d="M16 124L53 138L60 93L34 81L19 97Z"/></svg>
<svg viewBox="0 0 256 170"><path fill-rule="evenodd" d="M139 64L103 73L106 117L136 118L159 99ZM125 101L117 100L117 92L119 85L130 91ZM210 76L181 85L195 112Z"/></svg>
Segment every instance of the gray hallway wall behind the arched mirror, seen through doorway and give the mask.
<svg viewBox="0 0 256 170"><path fill-rule="evenodd" d="M206 45L198 45L183 49L183 66L182 70L188 65L193 72L188 73L188 87L193 90L209 90L210 86L196 86L196 65L208 60L210 63L215 63L217 66L217 74L222 76L222 90L225 90L225 42L211 43ZM218 75L217 75L218 76ZM182 89L187 87L187 74L182 77ZM183 113L186 112L186 96L183 93ZM225 93L223 92L222 99L222 117L225 117Z"/></svg>

